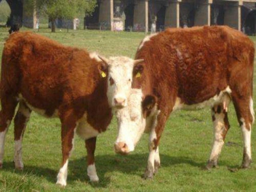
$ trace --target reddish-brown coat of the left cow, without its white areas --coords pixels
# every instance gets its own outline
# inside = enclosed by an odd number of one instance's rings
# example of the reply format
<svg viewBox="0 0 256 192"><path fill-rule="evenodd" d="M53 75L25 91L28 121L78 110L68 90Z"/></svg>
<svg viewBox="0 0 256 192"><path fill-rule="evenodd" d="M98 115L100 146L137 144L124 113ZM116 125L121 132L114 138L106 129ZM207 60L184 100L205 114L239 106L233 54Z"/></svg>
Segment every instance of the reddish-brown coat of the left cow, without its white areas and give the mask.
<svg viewBox="0 0 256 192"><path fill-rule="evenodd" d="M1 67L0 132L8 128L6 122L13 118L19 94L29 106L45 110L45 116L51 117L58 109L63 166L72 149L76 123L84 113L88 124L99 132L106 131L111 122L107 80L100 76L99 65L84 49L65 47L34 33L10 35ZM19 140L25 129L24 115L19 112L14 129L15 140ZM93 164L96 140L89 140L88 163Z"/></svg>

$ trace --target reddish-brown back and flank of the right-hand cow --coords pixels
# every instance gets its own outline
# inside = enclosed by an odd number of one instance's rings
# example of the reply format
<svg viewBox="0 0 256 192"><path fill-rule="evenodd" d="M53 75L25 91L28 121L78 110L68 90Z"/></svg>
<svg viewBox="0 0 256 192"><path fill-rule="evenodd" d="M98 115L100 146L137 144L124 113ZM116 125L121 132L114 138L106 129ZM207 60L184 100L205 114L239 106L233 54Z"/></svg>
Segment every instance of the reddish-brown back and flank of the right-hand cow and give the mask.
<svg viewBox="0 0 256 192"><path fill-rule="evenodd" d="M172 102L176 97L189 105L210 99L236 83L244 68L252 78L252 41L226 26L167 29L142 44L136 59L145 60L150 92L172 94Z"/></svg>

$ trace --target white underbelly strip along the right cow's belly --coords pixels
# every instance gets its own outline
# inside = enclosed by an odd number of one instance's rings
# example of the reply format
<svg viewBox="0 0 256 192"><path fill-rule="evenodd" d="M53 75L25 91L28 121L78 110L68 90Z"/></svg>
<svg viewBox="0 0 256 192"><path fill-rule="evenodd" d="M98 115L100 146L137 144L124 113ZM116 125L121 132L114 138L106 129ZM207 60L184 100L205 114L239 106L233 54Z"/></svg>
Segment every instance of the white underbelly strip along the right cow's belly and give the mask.
<svg viewBox="0 0 256 192"><path fill-rule="evenodd" d="M209 100L205 100L204 102L198 103L198 104L192 104L192 105L187 105L181 102L180 98L177 97L175 100L175 105L173 106L173 111L178 110L178 109L185 109L185 110L196 110L196 109L202 109L207 106L214 106L214 104L218 103L223 103L227 97L227 95L230 95L232 91L230 90L230 87L227 86L225 90L222 90L219 95L215 95Z"/></svg>

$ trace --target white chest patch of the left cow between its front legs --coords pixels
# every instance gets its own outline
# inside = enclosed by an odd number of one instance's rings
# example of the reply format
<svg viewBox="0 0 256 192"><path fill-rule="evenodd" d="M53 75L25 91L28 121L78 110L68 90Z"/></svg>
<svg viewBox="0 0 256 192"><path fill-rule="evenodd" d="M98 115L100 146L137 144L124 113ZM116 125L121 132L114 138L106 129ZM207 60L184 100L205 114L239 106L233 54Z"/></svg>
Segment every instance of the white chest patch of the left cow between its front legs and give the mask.
<svg viewBox="0 0 256 192"><path fill-rule="evenodd" d="M93 127L87 122L87 113L84 113L83 118L77 123L76 134L83 140L94 138L99 134L99 131L93 129Z"/></svg>

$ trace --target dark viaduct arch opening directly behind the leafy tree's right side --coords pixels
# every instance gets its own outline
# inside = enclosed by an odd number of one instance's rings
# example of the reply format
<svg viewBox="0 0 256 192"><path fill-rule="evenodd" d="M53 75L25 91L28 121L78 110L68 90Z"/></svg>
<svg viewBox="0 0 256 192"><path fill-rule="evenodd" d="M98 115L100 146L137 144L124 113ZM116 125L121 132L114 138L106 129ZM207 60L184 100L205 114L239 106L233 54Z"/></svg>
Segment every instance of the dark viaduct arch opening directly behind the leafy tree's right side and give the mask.
<svg viewBox="0 0 256 192"><path fill-rule="evenodd" d="M100 3L97 2L97 6L95 7L92 15L84 17L84 28L85 26L88 29L99 29L99 15L100 15Z"/></svg>

